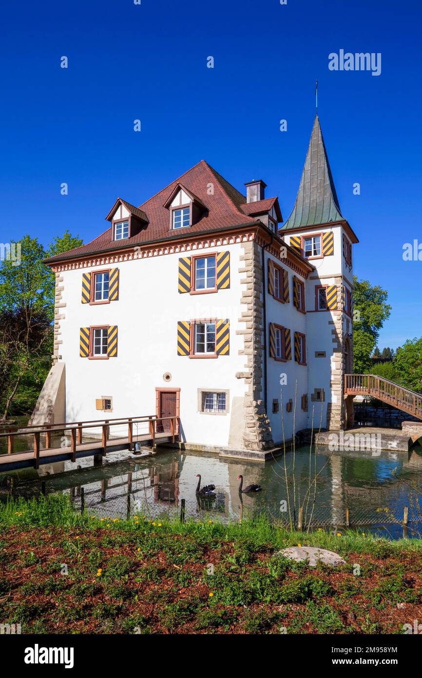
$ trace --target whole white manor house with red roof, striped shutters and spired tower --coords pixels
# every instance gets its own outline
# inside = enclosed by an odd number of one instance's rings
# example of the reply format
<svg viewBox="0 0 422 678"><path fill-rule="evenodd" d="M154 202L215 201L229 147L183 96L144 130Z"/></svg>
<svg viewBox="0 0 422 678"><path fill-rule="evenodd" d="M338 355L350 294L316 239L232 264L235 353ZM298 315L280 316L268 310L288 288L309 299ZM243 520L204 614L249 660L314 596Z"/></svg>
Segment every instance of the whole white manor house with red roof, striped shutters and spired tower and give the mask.
<svg viewBox="0 0 422 678"><path fill-rule="evenodd" d="M284 224L201 161L49 258L54 362L33 424L180 418L186 447L253 456L352 423L353 254L318 116Z"/></svg>

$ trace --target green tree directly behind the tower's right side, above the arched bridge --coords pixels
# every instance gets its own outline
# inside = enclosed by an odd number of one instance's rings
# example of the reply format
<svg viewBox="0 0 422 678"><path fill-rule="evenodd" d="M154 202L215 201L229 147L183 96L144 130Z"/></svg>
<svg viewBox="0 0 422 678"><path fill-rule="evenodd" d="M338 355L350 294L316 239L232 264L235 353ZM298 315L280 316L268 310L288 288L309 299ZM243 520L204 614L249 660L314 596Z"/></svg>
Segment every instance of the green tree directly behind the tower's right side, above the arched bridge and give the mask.
<svg viewBox="0 0 422 678"><path fill-rule="evenodd" d="M377 345L379 330L389 317L387 292L368 280L354 276L354 371L368 372L371 355Z"/></svg>

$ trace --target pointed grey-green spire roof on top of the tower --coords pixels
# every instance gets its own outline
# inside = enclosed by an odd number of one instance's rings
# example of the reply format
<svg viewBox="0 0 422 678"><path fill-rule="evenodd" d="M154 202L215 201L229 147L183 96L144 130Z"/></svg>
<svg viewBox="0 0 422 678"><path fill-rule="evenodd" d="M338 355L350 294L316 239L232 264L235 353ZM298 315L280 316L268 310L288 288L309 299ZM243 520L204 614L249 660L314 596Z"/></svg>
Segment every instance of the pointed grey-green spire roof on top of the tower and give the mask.
<svg viewBox="0 0 422 678"><path fill-rule="evenodd" d="M320 121L316 115L295 207L279 230L328 224L331 221L344 221L344 217L340 212Z"/></svg>

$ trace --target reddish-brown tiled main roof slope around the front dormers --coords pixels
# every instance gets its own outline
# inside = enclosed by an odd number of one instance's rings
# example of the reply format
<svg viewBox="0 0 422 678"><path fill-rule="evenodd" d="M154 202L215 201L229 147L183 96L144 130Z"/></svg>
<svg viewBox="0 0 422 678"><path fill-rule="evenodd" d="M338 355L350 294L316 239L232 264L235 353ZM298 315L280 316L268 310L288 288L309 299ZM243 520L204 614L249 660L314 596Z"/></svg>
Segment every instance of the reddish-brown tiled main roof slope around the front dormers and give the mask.
<svg viewBox="0 0 422 678"><path fill-rule="evenodd" d="M207 212L201 216L196 224L188 228L177 228L175 231L171 231L169 230L169 210L163 205L179 183L199 197L207 207ZM209 195L211 189L213 192ZM210 167L205 160L201 160L188 172L140 205L138 209L146 213L149 222L148 226L142 228L140 233L116 243L110 241L110 227L108 227L102 235L99 235L87 245L58 254L47 259L46 262L53 263L118 250L120 247L130 247L131 245L134 247L135 245L167 240L172 237L178 238L184 233L208 233L245 224L256 224L258 220L245 215L245 212L240 209L240 205L244 205L244 203L245 196L236 191L236 188L229 184L218 172L215 172L215 169Z"/></svg>

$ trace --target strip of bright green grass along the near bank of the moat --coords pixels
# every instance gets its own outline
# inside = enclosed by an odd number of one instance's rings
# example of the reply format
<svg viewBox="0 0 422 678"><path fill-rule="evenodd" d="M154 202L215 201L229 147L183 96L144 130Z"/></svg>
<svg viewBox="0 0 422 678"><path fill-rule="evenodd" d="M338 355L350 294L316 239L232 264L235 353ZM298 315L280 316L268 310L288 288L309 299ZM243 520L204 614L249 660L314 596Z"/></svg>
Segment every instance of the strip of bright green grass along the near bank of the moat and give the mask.
<svg viewBox="0 0 422 678"><path fill-rule="evenodd" d="M156 522L156 521L155 521ZM400 554L402 551L422 551L421 539L399 539L396 541L379 538L371 534L362 534L356 530L344 530L341 536L318 530L318 532L301 533L289 532L276 523L270 523L265 517L257 517L240 523L199 523L197 521L169 521L161 519L161 527L152 526L151 521L135 523L133 519L113 522L104 521L92 517L87 513L76 513L66 496L48 495L41 496L38 500L33 498L9 499L7 503L0 504L0 526L12 527L16 525L20 530L26 527L66 527L80 530L81 542L72 538L66 542L66 551L72 553L80 548L83 540L89 538L89 534L102 529L104 534L102 546L115 546L117 540L124 544L124 534L114 535L112 532L135 532L142 534L140 553L148 553L149 556L157 554L163 548L163 537L169 535L190 536L188 542L169 540L167 553L169 561L175 565L199 562L205 549L213 547L224 540L235 542L235 553L228 556L228 565L242 567L253 561L253 554L271 549L284 549L287 546L319 546L323 549L335 551L340 555L347 553L367 553L376 558L387 558ZM108 525L108 526L107 526ZM159 532L160 534L157 534ZM145 536L150 536L145 540ZM0 550L1 554L1 550ZM1 556L0 556L1 557ZM3 556L4 557L4 556ZM31 555L26 555L26 561L30 563ZM100 557L93 555L96 560L93 565L100 565ZM279 565L280 566L280 565ZM368 573L370 574L370 573Z"/></svg>

